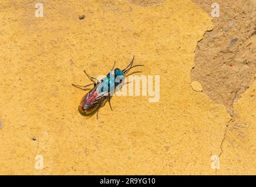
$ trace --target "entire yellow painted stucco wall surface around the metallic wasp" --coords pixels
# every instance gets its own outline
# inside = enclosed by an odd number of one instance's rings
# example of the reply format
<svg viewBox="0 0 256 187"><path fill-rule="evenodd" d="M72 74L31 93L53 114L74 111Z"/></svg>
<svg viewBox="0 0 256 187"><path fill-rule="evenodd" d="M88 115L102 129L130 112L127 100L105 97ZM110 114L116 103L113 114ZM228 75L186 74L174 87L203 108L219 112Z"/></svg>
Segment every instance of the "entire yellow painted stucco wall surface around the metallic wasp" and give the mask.
<svg viewBox="0 0 256 187"><path fill-rule="evenodd" d="M211 18L188 0L135 2L42 1L43 18L35 2L0 3L0 174L255 174L255 84L234 106L238 130L223 105L191 88ZM114 96L113 112L81 116L85 92L71 84L133 55L142 74L160 75L160 101Z"/></svg>

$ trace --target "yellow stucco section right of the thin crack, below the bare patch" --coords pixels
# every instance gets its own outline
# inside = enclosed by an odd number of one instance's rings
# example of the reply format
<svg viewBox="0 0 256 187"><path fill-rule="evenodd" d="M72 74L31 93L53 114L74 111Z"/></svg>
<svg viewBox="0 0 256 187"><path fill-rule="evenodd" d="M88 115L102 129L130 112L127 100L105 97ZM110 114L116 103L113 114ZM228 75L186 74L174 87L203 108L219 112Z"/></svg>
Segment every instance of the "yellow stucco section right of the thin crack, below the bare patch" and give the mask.
<svg viewBox="0 0 256 187"><path fill-rule="evenodd" d="M255 175L256 172L256 81L234 103L221 146L221 169L217 174Z"/></svg>

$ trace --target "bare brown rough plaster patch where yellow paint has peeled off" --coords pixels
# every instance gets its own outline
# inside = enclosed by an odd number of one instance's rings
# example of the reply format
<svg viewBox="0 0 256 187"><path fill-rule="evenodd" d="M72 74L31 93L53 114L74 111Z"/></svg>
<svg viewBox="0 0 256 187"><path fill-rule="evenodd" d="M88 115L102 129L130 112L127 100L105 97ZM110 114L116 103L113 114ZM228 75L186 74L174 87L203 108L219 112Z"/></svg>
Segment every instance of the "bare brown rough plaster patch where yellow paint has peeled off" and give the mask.
<svg viewBox="0 0 256 187"><path fill-rule="evenodd" d="M214 1L193 0L209 15ZM214 29L198 41L192 81L198 81L215 103L222 104L230 115L237 101L254 81L256 72L255 1L218 1L220 18Z"/></svg>

